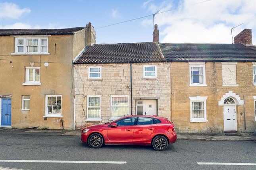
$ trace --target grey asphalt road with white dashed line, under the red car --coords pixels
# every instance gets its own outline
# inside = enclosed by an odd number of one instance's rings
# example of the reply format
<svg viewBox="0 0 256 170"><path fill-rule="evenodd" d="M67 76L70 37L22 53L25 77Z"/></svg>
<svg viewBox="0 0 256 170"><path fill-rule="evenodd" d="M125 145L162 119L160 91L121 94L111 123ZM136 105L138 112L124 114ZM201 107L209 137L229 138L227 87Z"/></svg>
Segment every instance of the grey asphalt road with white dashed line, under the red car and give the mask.
<svg viewBox="0 0 256 170"><path fill-rule="evenodd" d="M131 145L92 149L79 134L78 130L1 129L0 170L256 169L255 141L178 140L165 151Z"/></svg>

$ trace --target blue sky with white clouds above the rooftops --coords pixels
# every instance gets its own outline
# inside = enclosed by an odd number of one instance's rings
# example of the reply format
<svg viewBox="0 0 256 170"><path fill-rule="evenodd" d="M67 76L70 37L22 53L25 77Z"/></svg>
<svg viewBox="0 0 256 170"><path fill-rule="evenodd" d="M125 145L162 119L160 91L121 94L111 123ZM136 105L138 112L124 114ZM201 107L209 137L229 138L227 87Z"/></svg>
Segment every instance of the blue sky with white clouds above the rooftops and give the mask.
<svg viewBox="0 0 256 170"><path fill-rule="evenodd" d="M202 2L202 3L200 3ZM232 43L244 28L256 44L256 0L0 0L0 29L70 28L92 23L96 43ZM164 12L163 11L168 11ZM144 17L151 15L148 17ZM102 26L144 17L100 28Z"/></svg>

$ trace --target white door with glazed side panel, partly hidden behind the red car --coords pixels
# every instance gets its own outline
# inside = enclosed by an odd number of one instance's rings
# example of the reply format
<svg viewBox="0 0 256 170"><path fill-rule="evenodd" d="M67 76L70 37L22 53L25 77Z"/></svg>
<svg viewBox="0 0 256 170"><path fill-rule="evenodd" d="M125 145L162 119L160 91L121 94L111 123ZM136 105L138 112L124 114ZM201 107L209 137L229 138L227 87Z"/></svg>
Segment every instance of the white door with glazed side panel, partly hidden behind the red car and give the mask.
<svg viewBox="0 0 256 170"><path fill-rule="evenodd" d="M137 115L156 115L156 100L136 100Z"/></svg>

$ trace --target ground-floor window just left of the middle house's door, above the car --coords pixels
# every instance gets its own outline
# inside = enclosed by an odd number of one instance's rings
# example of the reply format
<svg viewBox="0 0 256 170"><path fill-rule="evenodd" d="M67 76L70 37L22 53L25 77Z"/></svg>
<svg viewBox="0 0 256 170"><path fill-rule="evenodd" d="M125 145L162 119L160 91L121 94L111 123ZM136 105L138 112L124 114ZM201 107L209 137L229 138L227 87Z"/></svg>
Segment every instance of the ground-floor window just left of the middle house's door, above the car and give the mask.
<svg viewBox="0 0 256 170"><path fill-rule="evenodd" d="M111 119L129 115L129 97L128 96L111 96Z"/></svg>

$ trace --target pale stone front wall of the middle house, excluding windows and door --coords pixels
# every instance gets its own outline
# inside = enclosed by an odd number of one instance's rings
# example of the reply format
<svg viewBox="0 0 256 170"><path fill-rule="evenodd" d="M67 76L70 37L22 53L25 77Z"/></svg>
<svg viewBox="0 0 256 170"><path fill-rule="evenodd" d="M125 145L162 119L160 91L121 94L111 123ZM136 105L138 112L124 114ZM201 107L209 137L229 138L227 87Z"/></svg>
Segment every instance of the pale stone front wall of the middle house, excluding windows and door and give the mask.
<svg viewBox="0 0 256 170"><path fill-rule="evenodd" d="M157 78L143 78L143 66L157 65ZM88 67L101 66L102 79L88 79ZM110 121L111 95L129 95L129 113L131 114L130 64L76 64L76 128ZM134 63L132 64L133 114L135 100L157 99L158 115L171 118L170 108L170 70L169 63ZM83 96L85 94L85 96ZM102 121L86 121L87 95L101 96Z"/></svg>

